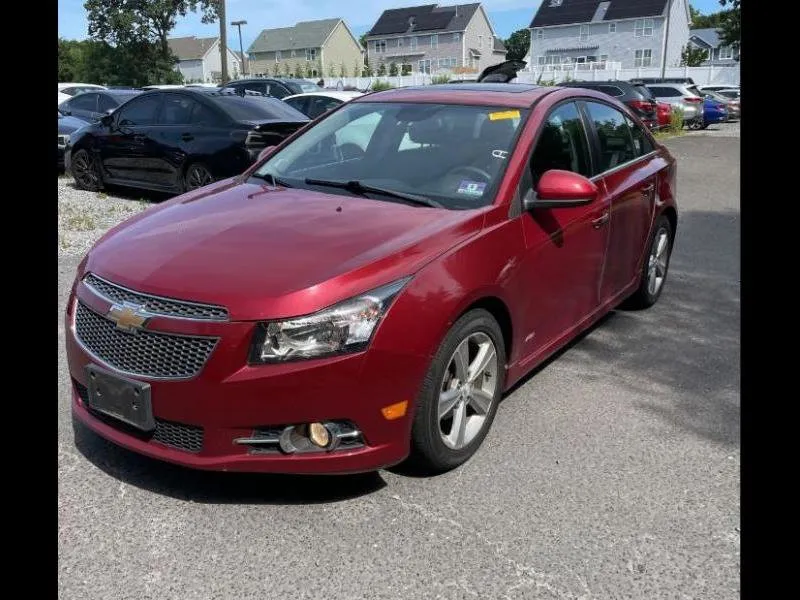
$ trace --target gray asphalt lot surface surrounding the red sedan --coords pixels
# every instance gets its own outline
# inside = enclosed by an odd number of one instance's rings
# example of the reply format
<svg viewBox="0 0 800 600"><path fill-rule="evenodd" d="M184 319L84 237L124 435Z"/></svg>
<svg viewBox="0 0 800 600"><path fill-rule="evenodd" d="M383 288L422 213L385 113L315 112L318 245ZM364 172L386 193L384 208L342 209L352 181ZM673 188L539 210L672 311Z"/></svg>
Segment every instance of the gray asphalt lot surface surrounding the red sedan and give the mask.
<svg viewBox="0 0 800 600"><path fill-rule="evenodd" d="M660 302L604 319L427 479L196 473L73 426L74 269L141 209L109 197L59 254L59 597L738 598L739 138L714 130L667 141L681 216ZM73 192L59 180L62 210Z"/></svg>

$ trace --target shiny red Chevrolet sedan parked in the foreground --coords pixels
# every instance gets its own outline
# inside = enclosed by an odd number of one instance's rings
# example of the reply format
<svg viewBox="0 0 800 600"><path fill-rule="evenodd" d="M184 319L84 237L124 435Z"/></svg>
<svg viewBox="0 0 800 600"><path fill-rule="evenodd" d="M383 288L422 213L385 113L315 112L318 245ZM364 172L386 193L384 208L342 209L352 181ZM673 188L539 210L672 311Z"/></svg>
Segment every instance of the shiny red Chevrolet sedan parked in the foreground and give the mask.
<svg viewBox="0 0 800 600"><path fill-rule="evenodd" d="M200 469L453 468L521 377L656 302L675 176L599 92L356 99L94 246L66 314L73 411Z"/></svg>

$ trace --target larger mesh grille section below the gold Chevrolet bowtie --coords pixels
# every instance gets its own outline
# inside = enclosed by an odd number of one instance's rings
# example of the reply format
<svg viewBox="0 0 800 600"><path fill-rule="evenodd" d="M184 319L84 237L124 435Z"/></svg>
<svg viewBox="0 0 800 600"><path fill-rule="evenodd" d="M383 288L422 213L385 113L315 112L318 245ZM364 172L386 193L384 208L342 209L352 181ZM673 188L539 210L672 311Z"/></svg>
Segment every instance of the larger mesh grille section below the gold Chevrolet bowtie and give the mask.
<svg viewBox="0 0 800 600"><path fill-rule="evenodd" d="M119 371L159 379L187 379L203 368L217 338L140 330L135 334L78 301L75 334L97 358Z"/></svg>

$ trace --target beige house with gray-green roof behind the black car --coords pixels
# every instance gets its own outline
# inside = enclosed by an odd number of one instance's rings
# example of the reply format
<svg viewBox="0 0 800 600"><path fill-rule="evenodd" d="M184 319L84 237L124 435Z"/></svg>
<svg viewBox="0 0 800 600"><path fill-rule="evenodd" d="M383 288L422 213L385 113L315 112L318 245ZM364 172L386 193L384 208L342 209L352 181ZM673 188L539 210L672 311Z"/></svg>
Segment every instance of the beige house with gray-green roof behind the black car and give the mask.
<svg viewBox="0 0 800 600"><path fill-rule="evenodd" d="M247 50L252 75L361 75L363 49L342 19L263 30ZM358 73L355 73L355 71Z"/></svg>

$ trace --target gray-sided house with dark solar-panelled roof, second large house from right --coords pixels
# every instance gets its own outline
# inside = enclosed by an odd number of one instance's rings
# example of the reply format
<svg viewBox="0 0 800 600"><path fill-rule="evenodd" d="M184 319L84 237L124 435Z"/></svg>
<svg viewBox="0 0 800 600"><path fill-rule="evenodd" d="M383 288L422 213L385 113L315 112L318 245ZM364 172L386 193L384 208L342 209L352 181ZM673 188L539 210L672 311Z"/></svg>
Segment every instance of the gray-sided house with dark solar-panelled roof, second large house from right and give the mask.
<svg viewBox="0 0 800 600"><path fill-rule="evenodd" d="M492 24L480 3L427 4L383 11L366 36L374 72L479 72L505 60Z"/></svg>

